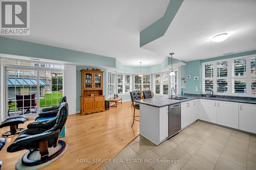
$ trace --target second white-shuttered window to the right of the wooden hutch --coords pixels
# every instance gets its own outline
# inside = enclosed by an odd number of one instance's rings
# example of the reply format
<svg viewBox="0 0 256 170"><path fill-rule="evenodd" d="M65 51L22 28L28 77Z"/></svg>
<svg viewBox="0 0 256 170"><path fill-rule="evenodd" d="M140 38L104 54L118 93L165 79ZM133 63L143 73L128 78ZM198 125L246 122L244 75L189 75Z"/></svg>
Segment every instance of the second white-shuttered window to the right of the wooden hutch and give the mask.
<svg viewBox="0 0 256 170"><path fill-rule="evenodd" d="M131 75L117 75L117 93L124 94L131 90Z"/></svg>

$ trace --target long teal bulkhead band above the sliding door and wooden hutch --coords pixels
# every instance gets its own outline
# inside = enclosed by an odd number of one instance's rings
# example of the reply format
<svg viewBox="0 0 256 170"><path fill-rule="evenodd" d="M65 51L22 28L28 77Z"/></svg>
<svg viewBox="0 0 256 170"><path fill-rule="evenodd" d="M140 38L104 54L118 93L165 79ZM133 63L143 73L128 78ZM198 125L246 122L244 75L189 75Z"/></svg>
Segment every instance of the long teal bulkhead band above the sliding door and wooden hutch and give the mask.
<svg viewBox="0 0 256 170"><path fill-rule="evenodd" d="M78 52L28 41L0 37L0 53L74 62L84 65L115 67L116 59L91 53Z"/></svg>

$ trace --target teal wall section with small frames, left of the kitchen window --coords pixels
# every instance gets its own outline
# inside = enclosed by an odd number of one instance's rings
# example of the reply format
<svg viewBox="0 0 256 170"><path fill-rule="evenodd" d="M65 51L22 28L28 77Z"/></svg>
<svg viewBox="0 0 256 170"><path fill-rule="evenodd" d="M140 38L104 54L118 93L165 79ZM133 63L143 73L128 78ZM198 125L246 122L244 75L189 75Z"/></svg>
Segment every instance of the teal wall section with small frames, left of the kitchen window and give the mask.
<svg viewBox="0 0 256 170"><path fill-rule="evenodd" d="M186 89L185 93L201 94L201 79L202 79L202 69L201 69L201 60L189 61L186 63L185 67L185 80L186 80ZM190 75L191 78L187 79L186 76ZM198 76L199 80L194 80L194 77ZM196 86L198 91L196 91Z"/></svg>

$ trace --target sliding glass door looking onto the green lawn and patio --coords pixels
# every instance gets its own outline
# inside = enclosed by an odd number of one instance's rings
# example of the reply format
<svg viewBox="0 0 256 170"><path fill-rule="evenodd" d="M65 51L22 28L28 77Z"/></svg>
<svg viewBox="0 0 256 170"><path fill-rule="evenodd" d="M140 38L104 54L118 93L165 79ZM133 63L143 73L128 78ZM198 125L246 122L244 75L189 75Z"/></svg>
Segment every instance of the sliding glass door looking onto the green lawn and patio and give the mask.
<svg viewBox="0 0 256 170"><path fill-rule="evenodd" d="M36 117L42 108L59 104L63 69L10 66L5 72L5 118L24 114Z"/></svg>

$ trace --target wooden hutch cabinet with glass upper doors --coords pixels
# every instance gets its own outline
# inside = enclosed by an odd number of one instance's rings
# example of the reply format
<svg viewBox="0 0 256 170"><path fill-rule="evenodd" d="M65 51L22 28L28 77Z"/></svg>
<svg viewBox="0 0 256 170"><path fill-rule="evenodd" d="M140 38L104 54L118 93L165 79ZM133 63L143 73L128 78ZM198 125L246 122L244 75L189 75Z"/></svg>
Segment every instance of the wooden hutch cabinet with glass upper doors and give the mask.
<svg viewBox="0 0 256 170"><path fill-rule="evenodd" d="M103 71L82 69L81 115L105 110Z"/></svg>

